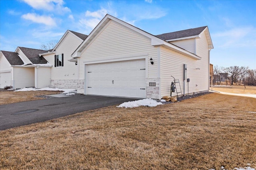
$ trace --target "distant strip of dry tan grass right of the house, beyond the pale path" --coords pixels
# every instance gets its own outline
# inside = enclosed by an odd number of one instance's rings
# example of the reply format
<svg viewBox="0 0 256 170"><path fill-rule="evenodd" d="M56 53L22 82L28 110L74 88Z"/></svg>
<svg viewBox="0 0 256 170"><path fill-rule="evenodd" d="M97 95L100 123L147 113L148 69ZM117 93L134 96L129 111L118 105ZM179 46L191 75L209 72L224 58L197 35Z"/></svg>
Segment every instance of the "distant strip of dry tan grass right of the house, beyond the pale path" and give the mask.
<svg viewBox="0 0 256 170"><path fill-rule="evenodd" d="M210 89L218 92L227 92L227 93L256 94L256 86L246 86L246 88L244 88L244 86L241 86L241 85L232 85L232 86L224 86L224 87L213 86Z"/></svg>

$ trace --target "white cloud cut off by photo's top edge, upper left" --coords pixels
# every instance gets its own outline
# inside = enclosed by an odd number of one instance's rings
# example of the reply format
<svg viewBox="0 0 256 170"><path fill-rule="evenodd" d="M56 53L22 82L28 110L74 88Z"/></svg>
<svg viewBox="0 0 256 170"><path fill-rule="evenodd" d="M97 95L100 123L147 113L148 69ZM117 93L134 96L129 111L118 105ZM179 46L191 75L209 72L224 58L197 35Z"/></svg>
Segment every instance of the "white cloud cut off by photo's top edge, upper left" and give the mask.
<svg viewBox="0 0 256 170"><path fill-rule="evenodd" d="M23 0L26 4L36 10L54 11L58 14L71 12L68 7L64 7L63 0Z"/></svg>

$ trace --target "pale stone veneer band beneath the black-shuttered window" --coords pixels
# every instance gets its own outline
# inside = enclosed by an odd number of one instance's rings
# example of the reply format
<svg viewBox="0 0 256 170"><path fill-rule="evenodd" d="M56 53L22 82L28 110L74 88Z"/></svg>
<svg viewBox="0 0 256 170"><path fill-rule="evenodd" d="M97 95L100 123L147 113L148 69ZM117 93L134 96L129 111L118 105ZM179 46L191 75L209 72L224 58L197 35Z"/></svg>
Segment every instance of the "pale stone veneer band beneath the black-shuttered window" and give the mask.
<svg viewBox="0 0 256 170"><path fill-rule="evenodd" d="M51 80L51 88L76 89L77 80Z"/></svg>

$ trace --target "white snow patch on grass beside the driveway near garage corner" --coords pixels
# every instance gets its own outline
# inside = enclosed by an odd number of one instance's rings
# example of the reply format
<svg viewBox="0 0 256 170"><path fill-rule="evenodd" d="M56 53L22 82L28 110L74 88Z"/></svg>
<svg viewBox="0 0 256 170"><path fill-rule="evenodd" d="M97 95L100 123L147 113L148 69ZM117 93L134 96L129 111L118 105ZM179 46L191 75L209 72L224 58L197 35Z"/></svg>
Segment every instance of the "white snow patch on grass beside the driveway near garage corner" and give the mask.
<svg viewBox="0 0 256 170"><path fill-rule="evenodd" d="M135 100L132 102L124 102L116 107L125 107L125 108L140 107L140 106L156 107L161 104L162 104L161 102L157 102L156 100L153 100L153 99L142 99L142 100Z"/></svg>

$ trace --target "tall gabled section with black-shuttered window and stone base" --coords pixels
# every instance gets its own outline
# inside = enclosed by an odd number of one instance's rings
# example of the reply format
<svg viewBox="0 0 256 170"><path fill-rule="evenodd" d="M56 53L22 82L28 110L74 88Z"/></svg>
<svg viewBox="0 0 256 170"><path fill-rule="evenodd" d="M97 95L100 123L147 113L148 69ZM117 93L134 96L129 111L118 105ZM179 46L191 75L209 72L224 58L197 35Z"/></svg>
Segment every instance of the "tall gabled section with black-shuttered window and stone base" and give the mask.
<svg viewBox="0 0 256 170"><path fill-rule="evenodd" d="M69 62L71 54L86 39L88 35L67 30L54 49L41 53L50 64L52 88L77 88L78 66Z"/></svg>

